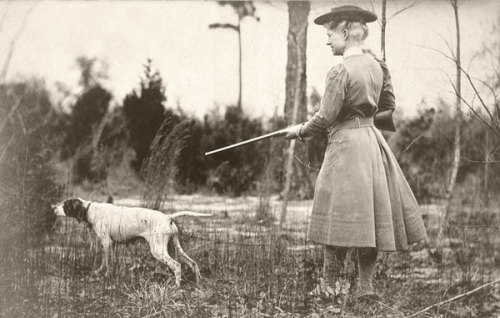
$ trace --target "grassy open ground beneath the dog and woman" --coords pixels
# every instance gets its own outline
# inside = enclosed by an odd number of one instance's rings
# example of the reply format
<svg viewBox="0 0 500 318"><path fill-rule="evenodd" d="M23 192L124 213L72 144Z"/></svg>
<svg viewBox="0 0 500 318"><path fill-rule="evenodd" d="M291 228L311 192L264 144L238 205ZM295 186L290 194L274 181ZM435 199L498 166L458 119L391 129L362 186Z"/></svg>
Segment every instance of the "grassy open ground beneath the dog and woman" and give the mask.
<svg viewBox="0 0 500 318"><path fill-rule="evenodd" d="M407 317L500 277L497 212L453 213L441 257L431 257L423 246L384 254L376 275L381 300L339 304L314 292L321 277L322 250L305 235L310 201L291 202L281 229L272 221L279 215L275 200L260 219L255 218L258 198L191 196L171 202L165 210L214 213L210 219L180 221L181 243L200 266L198 286L183 268L182 286L176 288L172 273L141 241L117 246L110 278L92 276L100 261L94 236L84 225L60 219L39 248L13 250L2 245L0 316ZM423 210L432 238L437 233L435 209ZM494 285L417 317L499 315L500 286Z"/></svg>

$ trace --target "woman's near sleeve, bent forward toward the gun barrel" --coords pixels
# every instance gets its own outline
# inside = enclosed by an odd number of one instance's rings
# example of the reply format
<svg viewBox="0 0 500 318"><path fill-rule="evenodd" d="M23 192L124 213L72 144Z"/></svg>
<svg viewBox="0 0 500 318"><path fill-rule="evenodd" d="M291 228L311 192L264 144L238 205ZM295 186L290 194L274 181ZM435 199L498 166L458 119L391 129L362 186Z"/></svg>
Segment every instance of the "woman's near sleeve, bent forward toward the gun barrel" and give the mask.
<svg viewBox="0 0 500 318"><path fill-rule="evenodd" d="M349 74L344 65L334 66L326 77L325 93L319 110L307 121L300 131L301 137L322 134L333 125L344 104L347 94Z"/></svg>

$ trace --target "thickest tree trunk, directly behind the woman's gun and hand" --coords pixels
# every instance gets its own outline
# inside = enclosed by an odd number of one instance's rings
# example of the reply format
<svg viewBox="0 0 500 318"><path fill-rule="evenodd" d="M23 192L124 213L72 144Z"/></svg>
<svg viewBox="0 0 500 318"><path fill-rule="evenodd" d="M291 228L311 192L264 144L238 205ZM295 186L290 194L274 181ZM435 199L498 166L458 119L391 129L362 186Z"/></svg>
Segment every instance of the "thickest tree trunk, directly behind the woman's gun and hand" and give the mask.
<svg viewBox="0 0 500 318"><path fill-rule="evenodd" d="M289 124L297 124L305 121L307 118L306 47L309 10L310 3L307 1L288 2L290 20L288 28L285 119ZM295 152L297 151L302 157L307 153L304 145L298 147L299 149L295 149L295 146L296 142L292 140L286 154L285 184L282 192L283 205L281 207L280 225L283 225L286 221L288 197L294 171L293 159ZM303 174L301 173L301 175ZM306 185L308 184L309 182L306 183Z"/></svg>

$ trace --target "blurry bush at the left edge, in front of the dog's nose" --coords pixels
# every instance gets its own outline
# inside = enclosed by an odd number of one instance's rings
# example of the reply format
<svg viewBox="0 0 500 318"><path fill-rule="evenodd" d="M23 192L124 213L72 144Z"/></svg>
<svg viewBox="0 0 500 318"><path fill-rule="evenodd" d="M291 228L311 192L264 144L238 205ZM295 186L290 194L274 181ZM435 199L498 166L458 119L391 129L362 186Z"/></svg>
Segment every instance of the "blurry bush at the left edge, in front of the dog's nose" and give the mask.
<svg viewBox="0 0 500 318"><path fill-rule="evenodd" d="M55 220L51 204L61 197L51 166L58 115L41 82L0 86L0 101L1 239L40 243Z"/></svg>

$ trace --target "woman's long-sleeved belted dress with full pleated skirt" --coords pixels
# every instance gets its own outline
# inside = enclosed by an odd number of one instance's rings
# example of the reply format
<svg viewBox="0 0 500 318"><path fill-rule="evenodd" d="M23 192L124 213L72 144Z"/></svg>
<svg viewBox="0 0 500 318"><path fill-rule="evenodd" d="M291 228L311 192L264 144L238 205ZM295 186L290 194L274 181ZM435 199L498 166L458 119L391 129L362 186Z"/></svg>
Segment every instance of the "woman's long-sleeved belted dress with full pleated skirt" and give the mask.
<svg viewBox="0 0 500 318"><path fill-rule="evenodd" d="M329 131L314 193L312 241L396 251L426 237L411 188L373 126L379 107L393 108L379 105L393 101L391 94L390 78L369 55L352 54L329 72L321 107L303 127L305 135Z"/></svg>

